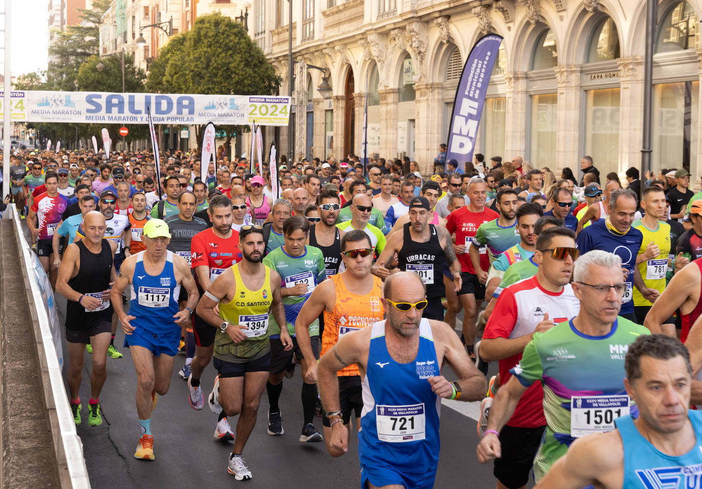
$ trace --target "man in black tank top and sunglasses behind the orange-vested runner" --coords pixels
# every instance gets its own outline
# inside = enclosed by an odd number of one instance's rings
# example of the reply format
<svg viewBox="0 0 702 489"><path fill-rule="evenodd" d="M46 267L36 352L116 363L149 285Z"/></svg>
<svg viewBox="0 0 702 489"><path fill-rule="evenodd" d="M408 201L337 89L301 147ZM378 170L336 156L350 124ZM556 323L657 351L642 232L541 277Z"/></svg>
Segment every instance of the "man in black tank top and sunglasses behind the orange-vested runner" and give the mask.
<svg viewBox="0 0 702 489"><path fill-rule="evenodd" d="M336 192L324 189L317 197L319 215L322 219L314 226L310 226L308 244L316 246L324 254L324 270L326 276L339 273L341 265L341 238L345 231L336 227L336 219L341 209L339 196Z"/></svg>

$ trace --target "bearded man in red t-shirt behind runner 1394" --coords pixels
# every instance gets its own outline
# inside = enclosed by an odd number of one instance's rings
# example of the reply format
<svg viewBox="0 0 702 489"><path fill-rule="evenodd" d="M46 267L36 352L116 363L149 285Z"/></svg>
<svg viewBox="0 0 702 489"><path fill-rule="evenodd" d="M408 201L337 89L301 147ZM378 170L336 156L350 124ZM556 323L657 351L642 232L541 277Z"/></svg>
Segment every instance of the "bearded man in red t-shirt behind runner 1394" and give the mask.
<svg viewBox="0 0 702 489"><path fill-rule="evenodd" d="M218 275L231 267L232 264L240 262L242 258L241 250L239 250L239 232L232 229L232 201L224 195L213 196L207 213L212 227L195 234L190 241L191 267L195 272L200 294L210 287ZM195 335L195 356L190 364L191 374L187 379L187 387L190 390L190 406L195 410L200 410L204 406L200 377L212 359L213 342L217 329L194 314L193 332ZM233 436L231 439L234 439Z"/></svg>

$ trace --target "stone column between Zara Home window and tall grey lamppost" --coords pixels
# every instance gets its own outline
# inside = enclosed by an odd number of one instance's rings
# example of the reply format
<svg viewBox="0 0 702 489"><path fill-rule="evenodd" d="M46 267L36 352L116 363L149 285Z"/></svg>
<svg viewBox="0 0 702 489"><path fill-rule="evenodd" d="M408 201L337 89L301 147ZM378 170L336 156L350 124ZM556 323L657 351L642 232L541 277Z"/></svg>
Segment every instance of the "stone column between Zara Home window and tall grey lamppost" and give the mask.
<svg viewBox="0 0 702 489"><path fill-rule="evenodd" d="M619 58L619 166L617 173L641 166L644 130L644 58ZM643 175L642 175L643 177Z"/></svg>

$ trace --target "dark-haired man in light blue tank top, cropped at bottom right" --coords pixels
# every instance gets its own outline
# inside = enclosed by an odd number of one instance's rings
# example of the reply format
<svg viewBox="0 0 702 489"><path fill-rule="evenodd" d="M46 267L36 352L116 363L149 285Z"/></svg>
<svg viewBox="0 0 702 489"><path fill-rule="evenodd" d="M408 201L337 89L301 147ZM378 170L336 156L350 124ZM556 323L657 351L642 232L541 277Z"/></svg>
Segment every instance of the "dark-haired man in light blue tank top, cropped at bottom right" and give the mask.
<svg viewBox="0 0 702 489"><path fill-rule="evenodd" d="M702 488L702 413L687 409L698 402L687 348L673 337L642 335L629 346L625 368L639 417L619 417L616 430L575 441L537 489Z"/></svg>

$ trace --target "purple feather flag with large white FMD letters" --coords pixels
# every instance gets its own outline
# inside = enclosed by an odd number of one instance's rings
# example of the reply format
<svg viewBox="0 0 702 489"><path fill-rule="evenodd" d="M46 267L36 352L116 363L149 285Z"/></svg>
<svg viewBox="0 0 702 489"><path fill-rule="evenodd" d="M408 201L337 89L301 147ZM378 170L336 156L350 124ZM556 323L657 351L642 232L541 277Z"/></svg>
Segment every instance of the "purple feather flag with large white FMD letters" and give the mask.
<svg viewBox="0 0 702 489"><path fill-rule="evenodd" d="M497 34L480 38L463 66L456 99L453 100L449 142L446 145L446 161L455 159L461 171L465 170L465 162L473 158L485 93L498 57L500 43L502 36Z"/></svg>

